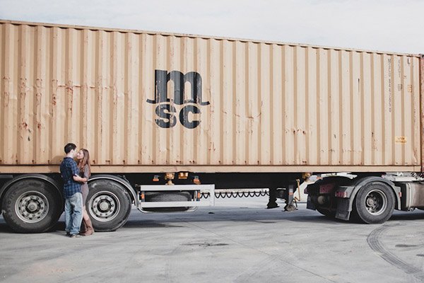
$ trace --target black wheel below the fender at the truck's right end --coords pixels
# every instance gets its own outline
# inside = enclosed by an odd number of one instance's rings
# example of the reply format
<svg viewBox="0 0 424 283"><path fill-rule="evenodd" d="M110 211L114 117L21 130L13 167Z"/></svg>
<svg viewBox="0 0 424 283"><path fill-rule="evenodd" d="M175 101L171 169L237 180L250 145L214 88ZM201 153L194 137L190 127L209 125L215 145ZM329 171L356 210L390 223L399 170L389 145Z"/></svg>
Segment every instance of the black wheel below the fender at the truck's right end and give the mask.
<svg viewBox="0 0 424 283"><path fill-rule="evenodd" d="M384 183L369 183L360 188L353 201L353 216L366 224L387 221L394 210L394 194Z"/></svg>

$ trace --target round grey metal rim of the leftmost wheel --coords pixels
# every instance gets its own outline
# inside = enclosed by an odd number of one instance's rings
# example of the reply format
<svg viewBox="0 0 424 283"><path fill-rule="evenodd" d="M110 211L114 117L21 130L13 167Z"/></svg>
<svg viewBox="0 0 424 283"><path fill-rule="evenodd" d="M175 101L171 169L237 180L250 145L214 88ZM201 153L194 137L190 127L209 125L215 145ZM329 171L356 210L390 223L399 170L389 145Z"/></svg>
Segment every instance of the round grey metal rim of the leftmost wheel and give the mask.
<svg viewBox="0 0 424 283"><path fill-rule="evenodd" d="M40 192L24 192L16 200L15 212L26 223L42 221L49 212L49 202Z"/></svg>

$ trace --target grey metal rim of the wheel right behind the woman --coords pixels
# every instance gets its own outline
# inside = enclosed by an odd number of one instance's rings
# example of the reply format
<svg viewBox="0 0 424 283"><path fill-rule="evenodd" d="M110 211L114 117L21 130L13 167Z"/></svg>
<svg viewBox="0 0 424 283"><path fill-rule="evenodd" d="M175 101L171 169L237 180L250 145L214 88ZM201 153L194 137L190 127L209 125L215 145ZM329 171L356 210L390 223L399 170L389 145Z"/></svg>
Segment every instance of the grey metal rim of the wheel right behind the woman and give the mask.
<svg viewBox="0 0 424 283"><path fill-rule="evenodd" d="M94 219L107 222L114 219L121 209L119 198L112 192L98 192L90 198L88 210Z"/></svg>

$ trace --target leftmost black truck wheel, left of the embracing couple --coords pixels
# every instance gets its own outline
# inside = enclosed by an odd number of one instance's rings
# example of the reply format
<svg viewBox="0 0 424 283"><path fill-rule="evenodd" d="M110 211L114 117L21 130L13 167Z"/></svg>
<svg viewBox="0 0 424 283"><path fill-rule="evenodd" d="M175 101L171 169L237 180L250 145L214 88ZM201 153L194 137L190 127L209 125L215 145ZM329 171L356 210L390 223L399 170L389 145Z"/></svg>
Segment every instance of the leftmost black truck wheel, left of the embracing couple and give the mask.
<svg viewBox="0 0 424 283"><path fill-rule="evenodd" d="M57 223L63 201L57 189L43 181L19 180L4 195L3 216L8 226L18 233L42 233Z"/></svg>

